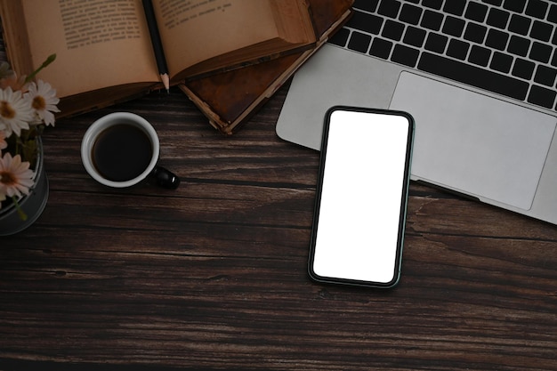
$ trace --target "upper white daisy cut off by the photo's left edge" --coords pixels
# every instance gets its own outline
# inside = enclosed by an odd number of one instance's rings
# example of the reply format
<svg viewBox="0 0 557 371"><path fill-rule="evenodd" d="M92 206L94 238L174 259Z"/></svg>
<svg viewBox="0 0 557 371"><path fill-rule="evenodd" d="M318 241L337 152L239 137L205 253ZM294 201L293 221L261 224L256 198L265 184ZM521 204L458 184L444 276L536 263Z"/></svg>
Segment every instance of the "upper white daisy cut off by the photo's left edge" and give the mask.
<svg viewBox="0 0 557 371"><path fill-rule="evenodd" d="M28 129L33 117L33 109L20 92L13 92L11 87L0 89L0 130L4 130L6 136L12 133L20 136L21 129Z"/></svg>

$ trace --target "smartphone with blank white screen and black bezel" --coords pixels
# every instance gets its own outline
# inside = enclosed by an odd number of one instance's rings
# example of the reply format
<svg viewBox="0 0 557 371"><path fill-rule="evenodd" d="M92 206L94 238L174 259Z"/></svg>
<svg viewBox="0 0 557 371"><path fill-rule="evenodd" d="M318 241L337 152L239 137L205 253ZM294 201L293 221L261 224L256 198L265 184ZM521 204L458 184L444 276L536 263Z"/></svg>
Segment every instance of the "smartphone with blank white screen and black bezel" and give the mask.
<svg viewBox="0 0 557 371"><path fill-rule="evenodd" d="M308 267L314 280L399 282L414 126L406 112L327 111Z"/></svg>

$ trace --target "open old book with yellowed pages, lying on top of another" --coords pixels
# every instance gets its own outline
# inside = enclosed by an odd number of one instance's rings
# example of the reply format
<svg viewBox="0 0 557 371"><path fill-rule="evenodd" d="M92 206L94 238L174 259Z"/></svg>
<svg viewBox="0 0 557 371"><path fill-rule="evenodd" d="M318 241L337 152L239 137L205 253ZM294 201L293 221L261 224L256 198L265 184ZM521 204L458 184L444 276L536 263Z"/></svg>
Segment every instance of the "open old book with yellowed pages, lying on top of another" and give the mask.
<svg viewBox="0 0 557 371"><path fill-rule="evenodd" d="M316 42L305 0L153 0L172 84L299 52ZM8 60L61 97L64 115L159 86L141 0L0 0Z"/></svg>

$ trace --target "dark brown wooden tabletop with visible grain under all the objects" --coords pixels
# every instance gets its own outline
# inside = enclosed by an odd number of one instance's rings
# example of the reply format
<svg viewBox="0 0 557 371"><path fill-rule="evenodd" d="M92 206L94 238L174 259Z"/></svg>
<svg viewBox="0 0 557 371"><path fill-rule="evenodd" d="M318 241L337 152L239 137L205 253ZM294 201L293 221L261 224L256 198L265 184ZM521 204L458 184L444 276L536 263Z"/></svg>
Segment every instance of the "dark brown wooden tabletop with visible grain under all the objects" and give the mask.
<svg viewBox="0 0 557 371"><path fill-rule="evenodd" d="M397 288L310 281L319 154L276 136L286 93L232 137L178 90L49 129L44 214L0 238L0 369L557 369L545 222L412 183ZM178 190L85 173L117 110L156 126Z"/></svg>

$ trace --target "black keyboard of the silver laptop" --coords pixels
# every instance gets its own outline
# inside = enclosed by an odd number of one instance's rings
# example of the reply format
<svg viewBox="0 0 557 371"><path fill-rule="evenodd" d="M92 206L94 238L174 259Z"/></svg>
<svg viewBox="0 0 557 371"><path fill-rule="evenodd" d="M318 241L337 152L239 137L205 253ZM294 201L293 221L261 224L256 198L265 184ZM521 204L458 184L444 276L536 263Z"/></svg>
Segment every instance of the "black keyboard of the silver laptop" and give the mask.
<svg viewBox="0 0 557 371"><path fill-rule="evenodd" d="M556 26L553 1L356 0L329 42L556 110Z"/></svg>

